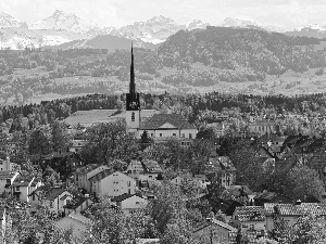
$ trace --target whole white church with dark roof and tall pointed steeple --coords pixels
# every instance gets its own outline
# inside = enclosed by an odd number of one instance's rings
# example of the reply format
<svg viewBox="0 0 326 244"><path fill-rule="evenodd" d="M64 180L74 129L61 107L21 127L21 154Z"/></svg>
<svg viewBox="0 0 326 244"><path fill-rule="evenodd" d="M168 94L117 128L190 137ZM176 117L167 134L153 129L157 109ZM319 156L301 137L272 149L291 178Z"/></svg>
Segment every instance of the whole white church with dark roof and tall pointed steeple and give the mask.
<svg viewBox="0 0 326 244"><path fill-rule="evenodd" d="M129 93L126 94L126 125L127 131L135 132L137 138L147 131L155 143L173 138L179 141L180 145L188 146L198 133L197 128L183 115L161 114L155 110L140 110L139 93L136 92L135 84L133 46Z"/></svg>

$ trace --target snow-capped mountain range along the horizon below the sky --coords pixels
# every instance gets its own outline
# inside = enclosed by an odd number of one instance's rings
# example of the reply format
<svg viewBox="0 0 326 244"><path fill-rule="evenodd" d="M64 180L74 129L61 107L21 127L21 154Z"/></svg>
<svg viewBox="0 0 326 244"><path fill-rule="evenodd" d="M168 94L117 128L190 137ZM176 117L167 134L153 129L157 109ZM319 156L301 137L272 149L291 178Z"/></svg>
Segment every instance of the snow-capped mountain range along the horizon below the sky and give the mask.
<svg viewBox="0 0 326 244"><path fill-rule="evenodd" d="M93 41L97 36L117 36L120 40L134 40L136 46L145 48L154 48L167 40L168 37L179 30L205 29L209 23L195 20L185 25L175 22L172 18L162 15L154 16L146 22L135 22L121 28L113 26L101 28L93 23L86 22L74 13L65 13L55 10L55 12L29 27L25 22L20 22L10 14L0 13L0 48L24 49L40 48L49 46L61 46L66 48L100 48L105 44L89 46L99 43ZM284 33L288 36L308 36L326 38L326 27L318 25L306 25L292 31L285 31L278 26L263 26L252 21L242 21L238 18L227 17L220 27L230 28L253 28L265 30L268 33ZM109 36L108 36L109 35ZM99 38L104 40L105 38ZM113 40L114 38L111 38ZM123 42L124 42L123 41ZM70 42L70 44L67 44ZM64 44L65 43L65 44ZM110 49L118 48L112 42Z"/></svg>

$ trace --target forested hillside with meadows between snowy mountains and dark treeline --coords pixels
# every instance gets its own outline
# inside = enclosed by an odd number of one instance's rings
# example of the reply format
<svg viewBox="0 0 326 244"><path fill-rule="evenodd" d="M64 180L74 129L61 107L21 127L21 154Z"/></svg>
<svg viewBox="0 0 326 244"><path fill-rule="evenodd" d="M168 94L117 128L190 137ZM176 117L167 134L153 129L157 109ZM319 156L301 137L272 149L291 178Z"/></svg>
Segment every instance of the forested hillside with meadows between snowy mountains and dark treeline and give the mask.
<svg viewBox="0 0 326 244"><path fill-rule="evenodd" d="M258 29L180 30L158 50L135 48L137 89L184 93L223 82L230 85L222 92L255 93L256 89L267 94L285 90L292 94L319 92L326 89L321 79L326 59L321 47L323 43L315 38ZM129 50L1 50L0 102L21 105L45 93L121 94L128 87L129 65ZM312 75L302 80L301 74L311 69ZM288 70L292 73L291 79L283 78ZM274 80L268 78L272 76ZM244 81L249 81L247 87L231 87ZM317 91L309 91L311 85Z"/></svg>

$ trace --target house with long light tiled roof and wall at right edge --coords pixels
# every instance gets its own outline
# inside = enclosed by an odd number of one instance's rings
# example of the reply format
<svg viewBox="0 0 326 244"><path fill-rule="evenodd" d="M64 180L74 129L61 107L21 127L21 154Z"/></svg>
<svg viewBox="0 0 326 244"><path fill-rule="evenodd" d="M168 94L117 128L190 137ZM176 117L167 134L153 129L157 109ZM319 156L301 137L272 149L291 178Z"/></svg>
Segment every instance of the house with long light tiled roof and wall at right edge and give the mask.
<svg viewBox="0 0 326 244"><path fill-rule="evenodd" d="M274 218L277 216L285 220L289 226L297 222L300 216L309 213L317 216L326 216L326 204L319 203L300 203L296 204L264 204L266 217L266 231L272 230L274 227Z"/></svg>

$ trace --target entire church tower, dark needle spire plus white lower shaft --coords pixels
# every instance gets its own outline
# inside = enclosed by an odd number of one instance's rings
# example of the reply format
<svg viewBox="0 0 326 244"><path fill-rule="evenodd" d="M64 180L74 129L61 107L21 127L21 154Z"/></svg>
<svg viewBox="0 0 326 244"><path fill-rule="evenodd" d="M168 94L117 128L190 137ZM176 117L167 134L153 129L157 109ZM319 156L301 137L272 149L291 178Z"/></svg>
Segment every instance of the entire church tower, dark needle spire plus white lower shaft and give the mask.
<svg viewBox="0 0 326 244"><path fill-rule="evenodd" d="M139 102L139 93L136 92L133 43L131 43L129 93L126 94L126 124L127 124L127 130L130 132L136 132L140 124L140 102Z"/></svg>

